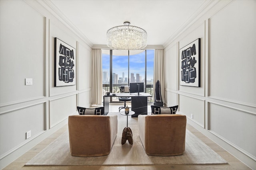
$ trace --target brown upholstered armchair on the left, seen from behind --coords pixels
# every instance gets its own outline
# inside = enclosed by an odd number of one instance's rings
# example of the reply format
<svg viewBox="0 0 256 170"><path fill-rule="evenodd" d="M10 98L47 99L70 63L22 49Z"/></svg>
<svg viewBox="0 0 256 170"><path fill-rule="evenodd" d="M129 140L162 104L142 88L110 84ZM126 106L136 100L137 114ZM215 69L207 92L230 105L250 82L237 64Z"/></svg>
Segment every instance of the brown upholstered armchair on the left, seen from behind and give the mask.
<svg viewBox="0 0 256 170"><path fill-rule="evenodd" d="M110 153L117 134L117 115L68 117L72 156L104 156Z"/></svg>

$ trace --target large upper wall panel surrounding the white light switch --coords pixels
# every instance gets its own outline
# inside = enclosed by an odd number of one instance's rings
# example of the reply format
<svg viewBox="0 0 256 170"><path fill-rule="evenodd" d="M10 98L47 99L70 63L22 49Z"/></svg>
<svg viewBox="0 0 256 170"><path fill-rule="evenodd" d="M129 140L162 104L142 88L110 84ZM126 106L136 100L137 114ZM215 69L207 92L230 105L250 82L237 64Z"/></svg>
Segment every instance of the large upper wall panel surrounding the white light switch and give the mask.
<svg viewBox="0 0 256 170"><path fill-rule="evenodd" d="M42 98L45 18L24 1L3 1L0 10L0 104Z"/></svg>

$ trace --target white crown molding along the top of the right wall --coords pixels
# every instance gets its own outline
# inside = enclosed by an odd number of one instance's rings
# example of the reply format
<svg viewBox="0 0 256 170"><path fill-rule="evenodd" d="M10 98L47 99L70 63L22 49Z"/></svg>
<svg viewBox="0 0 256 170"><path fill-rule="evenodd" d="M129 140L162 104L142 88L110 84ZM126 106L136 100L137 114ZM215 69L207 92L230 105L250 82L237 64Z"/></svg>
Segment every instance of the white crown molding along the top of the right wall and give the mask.
<svg viewBox="0 0 256 170"><path fill-rule="evenodd" d="M188 29L192 24L194 24L199 18L201 18L207 11L209 11L213 6L218 4L220 0L205 0L204 3L194 12L188 20L186 20L163 44L166 48L170 43L172 43L179 35L181 35L186 29Z"/></svg>

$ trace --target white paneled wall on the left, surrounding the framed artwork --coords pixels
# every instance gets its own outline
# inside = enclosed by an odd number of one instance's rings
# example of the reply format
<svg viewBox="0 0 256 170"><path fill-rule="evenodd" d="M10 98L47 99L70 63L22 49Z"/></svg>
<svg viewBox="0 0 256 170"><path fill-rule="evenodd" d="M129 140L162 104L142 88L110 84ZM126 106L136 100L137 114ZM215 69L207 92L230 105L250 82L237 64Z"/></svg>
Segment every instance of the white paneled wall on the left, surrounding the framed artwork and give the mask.
<svg viewBox="0 0 256 170"><path fill-rule="evenodd" d="M76 106L90 106L90 42L39 3L0 1L0 169L66 124ZM75 86L54 87L54 37L76 48Z"/></svg>

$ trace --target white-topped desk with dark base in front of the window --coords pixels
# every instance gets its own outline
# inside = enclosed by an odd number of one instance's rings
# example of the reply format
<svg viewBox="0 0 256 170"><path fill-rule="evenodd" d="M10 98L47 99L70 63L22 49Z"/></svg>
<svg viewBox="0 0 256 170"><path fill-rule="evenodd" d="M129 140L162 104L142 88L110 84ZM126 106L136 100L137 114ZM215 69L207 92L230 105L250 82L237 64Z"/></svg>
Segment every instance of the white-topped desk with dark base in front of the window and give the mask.
<svg viewBox="0 0 256 170"><path fill-rule="evenodd" d="M110 95L103 96L103 106L104 106L104 115L107 115L109 112L109 98L112 97L131 97L132 98L132 111L135 112L132 117L138 117L138 115L147 115L148 114L148 97L152 95L148 93L130 94L130 93L116 93L115 96L110 93Z"/></svg>

